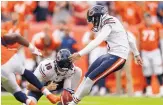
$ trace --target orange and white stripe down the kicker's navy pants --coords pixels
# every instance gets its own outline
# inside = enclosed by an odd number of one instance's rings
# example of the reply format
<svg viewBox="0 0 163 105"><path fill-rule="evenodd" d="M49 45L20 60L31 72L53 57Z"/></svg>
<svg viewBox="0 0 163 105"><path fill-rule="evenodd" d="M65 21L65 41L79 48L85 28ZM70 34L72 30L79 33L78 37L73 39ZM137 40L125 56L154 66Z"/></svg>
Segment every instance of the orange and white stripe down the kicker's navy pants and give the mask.
<svg viewBox="0 0 163 105"><path fill-rule="evenodd" d="M98 81L99 79L103 78L104 76L106 76L108 73L112 72L113 70L115 70L117 67L119 67L121 64L124 63L124 59L119 58L118 61L116 61L110 68L108 68L105 72L103 72L100 76L96 77L93 82Z"/></svg>

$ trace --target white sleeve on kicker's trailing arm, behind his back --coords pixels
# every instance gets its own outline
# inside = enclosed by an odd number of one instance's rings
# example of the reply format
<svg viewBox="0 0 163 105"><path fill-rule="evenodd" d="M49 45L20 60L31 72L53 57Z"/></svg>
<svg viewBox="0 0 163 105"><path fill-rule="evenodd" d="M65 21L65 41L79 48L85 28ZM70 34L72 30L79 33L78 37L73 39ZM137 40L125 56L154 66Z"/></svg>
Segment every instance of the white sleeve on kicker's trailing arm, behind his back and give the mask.
<svg viewBox="0 0 163 105"><path fill-rule="evenodd" d="M139 55L140 53L137 49L136 39L135 39L134 35L131 32L128 32L127 34L128 34L129 46L130 46L132 53L134 54L134 56Z"/></svg>

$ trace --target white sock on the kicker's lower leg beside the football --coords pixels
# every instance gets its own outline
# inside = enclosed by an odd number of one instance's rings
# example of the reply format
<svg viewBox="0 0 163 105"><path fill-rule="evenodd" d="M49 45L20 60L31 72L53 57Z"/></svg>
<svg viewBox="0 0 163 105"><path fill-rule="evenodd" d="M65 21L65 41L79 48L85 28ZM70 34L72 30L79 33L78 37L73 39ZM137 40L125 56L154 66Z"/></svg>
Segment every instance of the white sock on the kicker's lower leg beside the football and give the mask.
<svg viewBox="0 0 163 105"><path fill-rule="evenodd" d="M78 103L84 96L88 95L94 82L90 78L86 78L85 81L81 84L80 88L77 89L73 100L75 103Z"/></svg>

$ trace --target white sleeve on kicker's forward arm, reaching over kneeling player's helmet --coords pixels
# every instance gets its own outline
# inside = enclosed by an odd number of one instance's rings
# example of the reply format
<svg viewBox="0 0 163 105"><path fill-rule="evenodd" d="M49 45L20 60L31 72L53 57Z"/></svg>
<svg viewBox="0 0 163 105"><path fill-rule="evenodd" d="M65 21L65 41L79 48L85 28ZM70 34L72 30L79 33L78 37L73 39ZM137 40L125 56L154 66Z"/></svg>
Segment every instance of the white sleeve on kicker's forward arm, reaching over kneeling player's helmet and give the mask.
<svg viewBox="0 0 163 105"><path fill-rule="evenodd" d="M103 26L99 35L94 40L92 40L84 49L79 51L79 54L82 56L92 51L94 48L96 48L99 44L101 44L104 41L104 39L110 34L110 32L111 32L110 25L107 24Z"/></svg>

